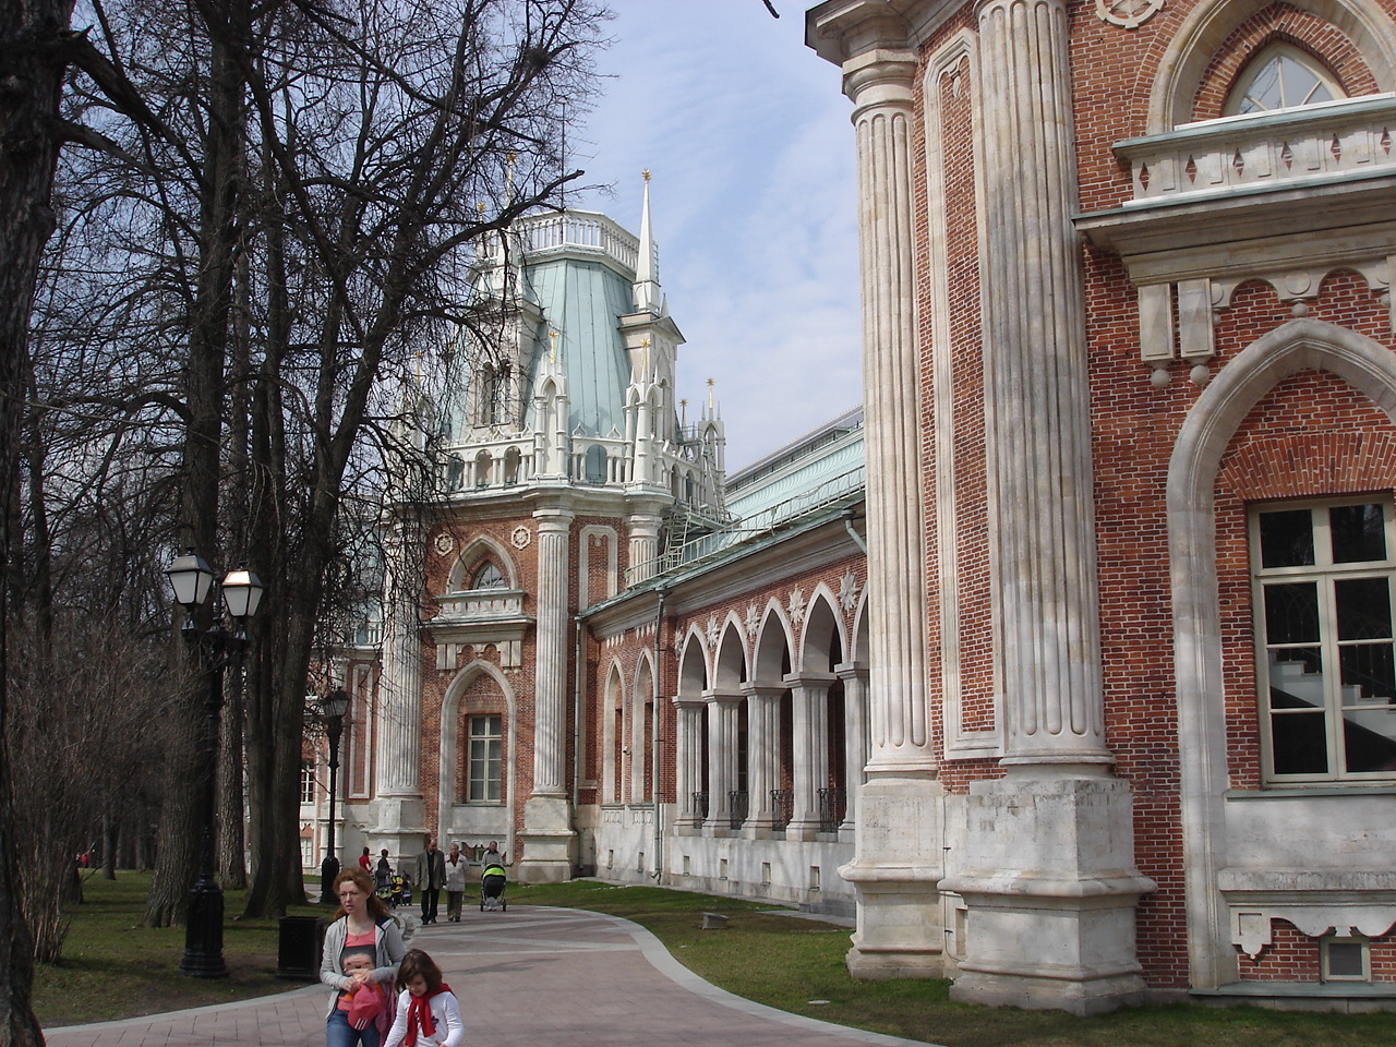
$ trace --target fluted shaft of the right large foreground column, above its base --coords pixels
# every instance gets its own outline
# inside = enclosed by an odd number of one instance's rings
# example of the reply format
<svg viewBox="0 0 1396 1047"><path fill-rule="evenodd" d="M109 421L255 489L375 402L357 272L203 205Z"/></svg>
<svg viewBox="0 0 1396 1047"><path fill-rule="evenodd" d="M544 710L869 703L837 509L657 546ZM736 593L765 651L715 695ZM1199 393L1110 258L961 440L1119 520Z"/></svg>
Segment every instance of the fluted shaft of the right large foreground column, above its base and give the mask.
<svg viewBox="0 0 1396 1047"><path fill-rule="evenodd" d="M1067 7L979 8L1007 761L1104 764Z"/></svg>

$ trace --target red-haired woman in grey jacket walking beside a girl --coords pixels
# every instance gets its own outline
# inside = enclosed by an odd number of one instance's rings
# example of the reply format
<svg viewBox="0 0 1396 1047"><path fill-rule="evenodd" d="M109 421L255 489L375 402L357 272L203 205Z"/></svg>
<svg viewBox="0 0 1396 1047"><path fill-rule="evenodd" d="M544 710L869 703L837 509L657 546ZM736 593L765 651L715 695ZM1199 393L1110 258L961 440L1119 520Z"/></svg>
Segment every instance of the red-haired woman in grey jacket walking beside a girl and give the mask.
<svg viewBox="0 0 1396 1047"><path fill-rule="evenodd" d="M391 987L406 952L402 933L388 906L373 893L373 882L362 868L346 868L335 877L335 893L339 913L325 928L320 955L320 980L335 990L325 1015L325 1047L378 1047L381 1030L377 1023L355 1027L350 1011L360 987ZM362 1013L357 1012L356 1019Z"/></svg>

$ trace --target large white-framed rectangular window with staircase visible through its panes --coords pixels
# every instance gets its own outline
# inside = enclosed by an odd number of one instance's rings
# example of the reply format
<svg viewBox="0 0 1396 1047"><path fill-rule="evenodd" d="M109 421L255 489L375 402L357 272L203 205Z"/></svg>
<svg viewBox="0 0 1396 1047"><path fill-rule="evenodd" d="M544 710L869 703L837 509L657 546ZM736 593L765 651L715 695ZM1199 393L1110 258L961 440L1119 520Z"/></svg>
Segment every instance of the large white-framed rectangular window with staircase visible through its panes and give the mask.
<svg viewBox="0 0 1396 1047"><path fill-rule="evenodd" d="M1396 776L1392 500L1251 517L1266 778Z"/></svg>

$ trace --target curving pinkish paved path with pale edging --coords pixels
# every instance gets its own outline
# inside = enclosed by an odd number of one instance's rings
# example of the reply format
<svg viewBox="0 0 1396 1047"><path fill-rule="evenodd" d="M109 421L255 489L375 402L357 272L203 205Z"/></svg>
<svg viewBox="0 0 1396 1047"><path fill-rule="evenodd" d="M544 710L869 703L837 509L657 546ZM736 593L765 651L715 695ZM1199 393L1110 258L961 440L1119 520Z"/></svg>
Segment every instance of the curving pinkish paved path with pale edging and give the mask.
<svg viewBox="0 0 1396 1047"><path fill-rule="evenodd" d="M752 1004L708 984L628 920L575 909L482 913L417 931L490 1047L924 1047ZM324 1047L328 993L46 1030L49 1047Z"/></svg>

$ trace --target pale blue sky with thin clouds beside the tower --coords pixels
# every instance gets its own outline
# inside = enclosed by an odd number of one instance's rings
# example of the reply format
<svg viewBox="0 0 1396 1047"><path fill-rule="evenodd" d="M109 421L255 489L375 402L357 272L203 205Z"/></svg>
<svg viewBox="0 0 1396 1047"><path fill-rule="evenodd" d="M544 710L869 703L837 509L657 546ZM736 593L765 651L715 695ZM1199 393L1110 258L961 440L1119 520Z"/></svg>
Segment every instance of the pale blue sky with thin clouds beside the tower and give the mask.
<svg viewBox="0 0 1396 1047"><path fill-rule="evenodd" d="M568 151L568 207L639 232L652 173L659 282L687 343L688 419L706 380L727 472L863 399L852 106L804 46L804 0L610 0L602 96Z"/></svg>

